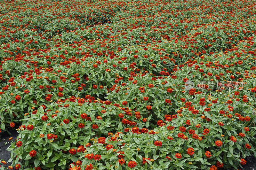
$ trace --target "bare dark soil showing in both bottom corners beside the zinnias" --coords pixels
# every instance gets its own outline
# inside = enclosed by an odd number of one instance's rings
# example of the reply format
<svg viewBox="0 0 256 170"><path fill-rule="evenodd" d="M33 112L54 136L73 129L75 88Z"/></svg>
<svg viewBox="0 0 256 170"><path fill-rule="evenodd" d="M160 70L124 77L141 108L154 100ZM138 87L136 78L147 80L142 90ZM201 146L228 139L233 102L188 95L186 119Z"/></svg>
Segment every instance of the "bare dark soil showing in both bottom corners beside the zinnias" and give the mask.
<svg viewBox="0 0 256 170"><path fill-rule="evenodd" d="M6 149L11 145L11 141L14 141L18 136L18 132L15 129L10 129L9 131L11 132L11 135L9 135L7 132L0 133L0 160L5 160L7 162L4 167L11 166L12 164L12 162L8 162L8 160L11 158L11 154L10 151L6 151ZM13 139L9 141L10 137L13 137ZM256 169L256 158L254 158L254 156L246 157L245 160L246 164L243 165L244 170Z"/></svg>

